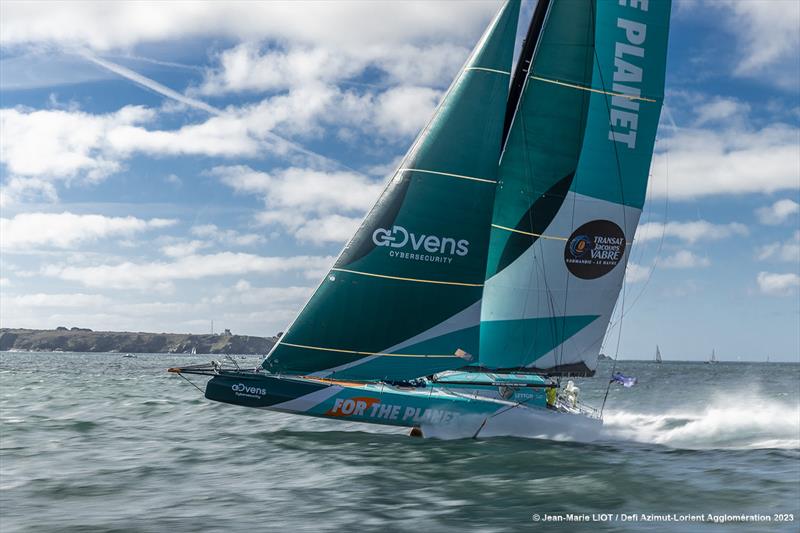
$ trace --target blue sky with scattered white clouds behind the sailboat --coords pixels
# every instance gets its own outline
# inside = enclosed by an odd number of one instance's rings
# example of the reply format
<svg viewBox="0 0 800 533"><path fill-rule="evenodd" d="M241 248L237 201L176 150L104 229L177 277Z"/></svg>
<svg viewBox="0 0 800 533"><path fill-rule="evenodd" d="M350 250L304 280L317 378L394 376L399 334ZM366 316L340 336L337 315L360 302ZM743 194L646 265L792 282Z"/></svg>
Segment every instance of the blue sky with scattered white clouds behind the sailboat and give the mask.
<svg viewBox="0 0 800 533"><path fill-rule="evenodd" d="M284 330L499 5L3 1L0 326ZM673 2L606 353L800 361L798 58L800 2Z"/></svg>

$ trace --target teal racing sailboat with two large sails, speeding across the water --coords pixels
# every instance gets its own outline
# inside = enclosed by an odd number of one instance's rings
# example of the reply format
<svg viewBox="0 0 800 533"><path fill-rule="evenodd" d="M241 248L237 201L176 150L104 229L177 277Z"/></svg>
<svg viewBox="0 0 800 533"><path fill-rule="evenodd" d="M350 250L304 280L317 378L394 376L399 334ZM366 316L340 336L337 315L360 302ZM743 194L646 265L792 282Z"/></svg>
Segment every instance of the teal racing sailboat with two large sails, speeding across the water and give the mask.
<svg viewBox="0 0 800 533"><path fill-rule="evenodd" d="M592 376L647 190L670 2L500 8L294 322L210 400L412 434L597 428ZM188 379L188 378L187 378Z"/></svg>

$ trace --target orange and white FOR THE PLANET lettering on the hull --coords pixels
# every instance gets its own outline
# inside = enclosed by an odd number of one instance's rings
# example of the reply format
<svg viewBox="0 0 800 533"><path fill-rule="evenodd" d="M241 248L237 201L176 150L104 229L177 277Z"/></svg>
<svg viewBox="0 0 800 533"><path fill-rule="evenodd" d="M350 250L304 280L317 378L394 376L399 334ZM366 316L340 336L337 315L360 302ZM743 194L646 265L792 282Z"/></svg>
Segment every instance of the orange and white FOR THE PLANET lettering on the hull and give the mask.
<svg viewBox="0 0 800 533"><path fill-rule="evenodd" d="M380 398L362 396L336 398L325 416L360 417L366 419L397 420L413 424L445 424L453 421L457 413L444 409L426 409L382 403Z"/></svg>

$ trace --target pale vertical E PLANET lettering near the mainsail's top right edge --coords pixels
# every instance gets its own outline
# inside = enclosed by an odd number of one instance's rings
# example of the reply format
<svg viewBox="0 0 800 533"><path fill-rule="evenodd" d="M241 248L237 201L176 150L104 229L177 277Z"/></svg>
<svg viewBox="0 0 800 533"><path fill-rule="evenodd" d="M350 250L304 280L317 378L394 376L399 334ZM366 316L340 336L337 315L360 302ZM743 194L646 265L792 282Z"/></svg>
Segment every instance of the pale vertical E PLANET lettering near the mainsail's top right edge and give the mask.
<svg viewBox="0 0 800 533"><path fill-rule="evenodd" d="M619 0L626 17L641 17L637 11L647 11L647 0ZM647 24L617 18L619 40L614 47L614 75L611 90L625 96L611 98L608 139L631 150L636 149L636 131L639 128L639 101L631 97L642 96L642 78L645 57Z"/></svg>

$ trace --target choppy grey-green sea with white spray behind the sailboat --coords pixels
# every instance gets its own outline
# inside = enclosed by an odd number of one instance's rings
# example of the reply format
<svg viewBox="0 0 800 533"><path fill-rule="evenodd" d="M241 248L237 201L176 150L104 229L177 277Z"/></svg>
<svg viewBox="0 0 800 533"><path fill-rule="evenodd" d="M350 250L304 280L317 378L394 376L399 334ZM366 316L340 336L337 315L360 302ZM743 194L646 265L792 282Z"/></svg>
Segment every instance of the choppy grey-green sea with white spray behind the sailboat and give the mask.
<svg viewBox="0 0 800 533"><path fill-rule="evenodd" d="M209 359L0 353L0 532L800 530L798 364L619 361L637 385L575 442L411 438L166 372Z"/></svg>

